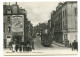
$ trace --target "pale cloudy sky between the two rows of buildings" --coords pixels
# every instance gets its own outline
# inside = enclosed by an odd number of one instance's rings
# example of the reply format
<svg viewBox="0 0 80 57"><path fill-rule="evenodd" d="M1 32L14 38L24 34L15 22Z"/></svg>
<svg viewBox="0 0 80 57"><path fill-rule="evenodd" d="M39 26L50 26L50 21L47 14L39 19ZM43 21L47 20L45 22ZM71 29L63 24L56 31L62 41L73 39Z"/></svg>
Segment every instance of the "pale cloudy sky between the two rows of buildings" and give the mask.
<svg viewBox="0 0 80 57"><path fill-rule="evenodd" d="M15 2L10 2L14 4ZM47 23L51 19L51 12L56 10L59 2L17 2L19 7L27 11L27 18L33 26Z"/></svg>

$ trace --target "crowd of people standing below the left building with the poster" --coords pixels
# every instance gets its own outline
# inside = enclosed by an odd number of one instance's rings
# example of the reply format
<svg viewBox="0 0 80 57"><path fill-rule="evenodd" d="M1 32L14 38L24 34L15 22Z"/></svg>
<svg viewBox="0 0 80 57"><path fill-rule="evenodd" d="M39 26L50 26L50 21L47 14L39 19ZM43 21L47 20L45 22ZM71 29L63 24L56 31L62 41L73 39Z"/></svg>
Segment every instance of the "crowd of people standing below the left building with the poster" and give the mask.
<svg viewBox="0 0 80 57"><path fill-rule="evenodd" d="M27 41L27 43L15 43L15 42L10 42L9 44L10 50L12 52L24 52L24 51L32 51L34 50L34 42Z"/></svg>

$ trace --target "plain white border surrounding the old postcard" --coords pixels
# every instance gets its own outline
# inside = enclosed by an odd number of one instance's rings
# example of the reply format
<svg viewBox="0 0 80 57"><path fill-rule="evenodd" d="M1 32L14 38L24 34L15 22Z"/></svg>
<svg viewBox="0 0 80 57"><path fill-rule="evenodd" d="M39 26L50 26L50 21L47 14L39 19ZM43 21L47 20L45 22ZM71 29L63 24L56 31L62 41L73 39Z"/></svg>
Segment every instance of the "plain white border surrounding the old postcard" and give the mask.
<svg viewBox="0 0 80 57"><path fill-rule="evenodd" d="M75 1L75 0L55 0L55 1ZM78 49L78 55L73 55L73 56L68 56L68 57L80 57L80 38L79 38L80 37L80 26L79 26L80 0L76 0L76 1L78 1L78 45L79 45L78 48L79 49ZM3 2L54 2L54 1L53 0L0 0L0 57L5 57L3 55ZM10 56L10 57L19 57L19 56ZM58 55L56 57L62 57L62 56ZM64 56L64 57L67 57L67 56Z"/></svg>

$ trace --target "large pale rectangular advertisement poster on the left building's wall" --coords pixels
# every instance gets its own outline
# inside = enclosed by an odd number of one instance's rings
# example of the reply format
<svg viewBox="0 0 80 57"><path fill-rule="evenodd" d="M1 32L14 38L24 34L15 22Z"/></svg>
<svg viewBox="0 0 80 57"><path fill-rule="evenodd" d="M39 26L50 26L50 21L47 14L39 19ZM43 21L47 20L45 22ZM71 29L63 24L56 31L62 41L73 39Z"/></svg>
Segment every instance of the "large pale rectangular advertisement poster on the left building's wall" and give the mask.
<svg viewBox="0 0 80 57"><path fill-rule="evenodd" d="M23 31L23 15L12 15L12 32Z"/></svg>

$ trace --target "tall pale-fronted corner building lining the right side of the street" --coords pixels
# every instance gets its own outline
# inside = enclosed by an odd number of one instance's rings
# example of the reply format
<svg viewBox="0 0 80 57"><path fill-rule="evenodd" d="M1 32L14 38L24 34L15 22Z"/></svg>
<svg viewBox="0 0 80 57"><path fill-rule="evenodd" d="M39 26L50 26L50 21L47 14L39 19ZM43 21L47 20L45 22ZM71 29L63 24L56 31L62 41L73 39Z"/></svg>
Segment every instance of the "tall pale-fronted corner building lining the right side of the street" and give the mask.
<svg viewBox="0 0 80 57"><path fill-rule="evenodd" d="M77 40L77 2L59 3L56 11L51 13L51 28L54 31L54 41L72 43Z"/></svg>

